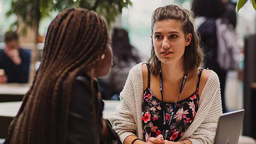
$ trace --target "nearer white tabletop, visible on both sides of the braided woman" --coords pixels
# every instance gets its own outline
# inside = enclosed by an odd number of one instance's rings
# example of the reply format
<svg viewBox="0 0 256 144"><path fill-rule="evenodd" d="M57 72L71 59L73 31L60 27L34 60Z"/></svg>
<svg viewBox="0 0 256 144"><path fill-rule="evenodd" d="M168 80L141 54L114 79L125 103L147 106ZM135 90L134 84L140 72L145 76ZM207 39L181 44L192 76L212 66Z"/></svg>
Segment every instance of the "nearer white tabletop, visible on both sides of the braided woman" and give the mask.
<svg viewBox="0 0 256 144"><path fill-rule="evenodd" d="M105 108L103 111L103 118L108 119L113 112L115 112L115 108L120 104L119 100L103 100L105 103ZM22 102L3 102L0 103L0 116L6 117L15 117L19 108L21 107Z"/></svg>

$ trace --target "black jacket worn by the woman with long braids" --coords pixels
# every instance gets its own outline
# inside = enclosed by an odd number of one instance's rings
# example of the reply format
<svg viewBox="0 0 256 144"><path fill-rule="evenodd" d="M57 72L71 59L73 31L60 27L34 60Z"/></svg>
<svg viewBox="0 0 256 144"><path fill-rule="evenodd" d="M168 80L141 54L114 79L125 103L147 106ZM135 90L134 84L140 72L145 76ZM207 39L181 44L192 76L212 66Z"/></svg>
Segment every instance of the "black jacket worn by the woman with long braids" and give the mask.
<svg viewBox="0 0 256 144"><path fill-rule="evenodd" d="M80 74L74 80L69 107L67 144L120 142L110 125L108 125L108 136L105 138L101 136L104 102L97 96L98 83L96 81L94 81L95 96L92 96L90 80L91 78L86 74ZM95 107L95 111L93 111L93 107Z"/></svg>

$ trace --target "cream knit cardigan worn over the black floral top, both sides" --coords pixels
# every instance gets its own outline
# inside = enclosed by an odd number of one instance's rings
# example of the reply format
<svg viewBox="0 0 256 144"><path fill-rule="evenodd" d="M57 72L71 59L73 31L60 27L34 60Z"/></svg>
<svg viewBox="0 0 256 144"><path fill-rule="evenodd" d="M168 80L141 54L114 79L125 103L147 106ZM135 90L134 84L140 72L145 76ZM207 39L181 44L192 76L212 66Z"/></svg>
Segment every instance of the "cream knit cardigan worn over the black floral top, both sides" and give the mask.
<svg viewBox="0 0 256 144"><path fill-rule="evenodd" d="M121 104L109 119L122 143L129 135L143 139L142 99L142 63L139 63L130 70L120 94ZM222 113L219 78L213 71L201 93L198 107L195 119L180 140L189 139L193 144L211 144Z"/></svg>

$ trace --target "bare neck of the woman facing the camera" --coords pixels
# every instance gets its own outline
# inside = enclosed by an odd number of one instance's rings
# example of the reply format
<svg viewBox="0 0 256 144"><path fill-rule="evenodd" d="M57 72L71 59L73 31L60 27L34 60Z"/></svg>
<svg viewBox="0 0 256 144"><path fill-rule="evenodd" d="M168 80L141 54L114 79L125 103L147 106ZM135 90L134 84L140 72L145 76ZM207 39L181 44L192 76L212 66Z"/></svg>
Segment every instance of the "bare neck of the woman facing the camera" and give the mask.
<svg viewBox="0 0 256 144"><path fill-rule="evenodd" d="M162 78L166 82L180 82L184 76L183 60L175 61L170 64L161 63Z"/></svg>

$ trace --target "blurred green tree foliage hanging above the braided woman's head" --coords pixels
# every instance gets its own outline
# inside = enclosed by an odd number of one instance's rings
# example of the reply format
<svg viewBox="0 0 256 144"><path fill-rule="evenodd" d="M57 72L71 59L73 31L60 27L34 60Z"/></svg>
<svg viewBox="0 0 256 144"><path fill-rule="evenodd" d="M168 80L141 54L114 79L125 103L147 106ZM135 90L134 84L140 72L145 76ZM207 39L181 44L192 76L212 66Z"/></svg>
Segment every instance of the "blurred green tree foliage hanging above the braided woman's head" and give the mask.
<svg viewBox="0 0 256 144"><path fill-rule="evenodd" d="M81 7L94 10L105 17L108 27L115 21L115 16L122 13L122 8L132 6L131 0L12 0L11 9L6 13L19 16L19 22L26 26L35 26L51 12L61 12L68 7ZM17 23L12 25L17 27Z"/></svg>

